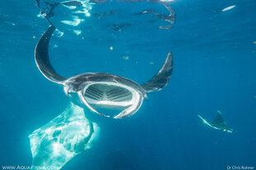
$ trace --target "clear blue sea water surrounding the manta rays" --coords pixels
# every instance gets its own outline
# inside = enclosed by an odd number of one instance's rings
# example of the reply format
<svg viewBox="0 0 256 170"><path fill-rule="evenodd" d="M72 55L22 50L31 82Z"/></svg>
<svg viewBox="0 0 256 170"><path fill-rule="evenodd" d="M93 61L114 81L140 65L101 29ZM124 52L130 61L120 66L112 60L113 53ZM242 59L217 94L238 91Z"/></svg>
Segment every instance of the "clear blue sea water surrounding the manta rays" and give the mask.
<svg viewBox="0 0 256 170"><path fill-rule="evenodd" d="M159 29L165 21L144 22L152 20L150 15L130 15L150 8L164 13L163 5L106 2L92 11L119 13L102 20L86 18L79 35L67 26L62 27L63 37L53 36L51 60L66 77L109 72L141 84L159 70L168 50L173 52L173 75L164 90L148 94L132 117L99 122L97 145L78 154L64 170L256 166L256 1L170 4L176 12L171 30ZM221 11L232 5L236 7ZM1 166L31 165L28 135L69 103L62 87L36 67L34 49L48 27L39 11L33 1L0 2ZM110 27L126 22L132 24L122 31ZM211 120L217 110L234 133L211 129L197 117L200 113Z"/></svg>

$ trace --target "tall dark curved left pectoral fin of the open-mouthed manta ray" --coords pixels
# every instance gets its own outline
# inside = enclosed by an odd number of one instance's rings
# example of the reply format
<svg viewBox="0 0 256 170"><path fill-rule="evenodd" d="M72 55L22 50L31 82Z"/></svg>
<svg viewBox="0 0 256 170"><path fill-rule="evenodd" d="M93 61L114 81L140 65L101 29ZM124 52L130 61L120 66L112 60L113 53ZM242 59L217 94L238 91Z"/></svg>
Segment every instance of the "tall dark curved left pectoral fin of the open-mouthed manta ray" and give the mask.
<svg viewBox="0 0 256 170"><path fill-rule="evenodd" d="M55 26L50 27L45 31L38 41L35 49L36 65L40 72L48 79L55 83L62 84L66 78L59 76L55 69L52 67L49 58L49 42L51 35L55 32Z"/></svg>

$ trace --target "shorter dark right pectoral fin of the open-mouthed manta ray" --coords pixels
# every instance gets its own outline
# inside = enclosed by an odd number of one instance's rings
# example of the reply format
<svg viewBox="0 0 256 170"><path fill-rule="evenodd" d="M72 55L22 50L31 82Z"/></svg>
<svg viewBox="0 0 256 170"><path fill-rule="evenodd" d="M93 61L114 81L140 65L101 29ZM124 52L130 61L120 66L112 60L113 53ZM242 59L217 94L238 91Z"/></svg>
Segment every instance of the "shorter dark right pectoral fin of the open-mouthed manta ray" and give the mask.
<svg viewBox="0 0 256 170"><path fill-rule="evenodd" d="M171 52L169 52L165 59L164 65L161 67L159 72L141 86L147 93L162 90L164 86L168 84L172 71L173 55Z"/></svg>

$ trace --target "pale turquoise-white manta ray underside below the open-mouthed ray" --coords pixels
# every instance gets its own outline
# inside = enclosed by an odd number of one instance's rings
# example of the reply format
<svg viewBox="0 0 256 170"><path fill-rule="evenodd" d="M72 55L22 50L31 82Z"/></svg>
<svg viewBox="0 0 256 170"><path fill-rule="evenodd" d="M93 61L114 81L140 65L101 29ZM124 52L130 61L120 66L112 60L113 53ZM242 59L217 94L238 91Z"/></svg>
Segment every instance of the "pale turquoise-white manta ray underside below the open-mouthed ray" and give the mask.
<svg viewBox="0 0 256 170"><path fill-rule="evenodd" d="M90 122L83 108L70 103L58 117L29 136L33 169L58 170L84 150L92 148L100 129Z"/></svg>

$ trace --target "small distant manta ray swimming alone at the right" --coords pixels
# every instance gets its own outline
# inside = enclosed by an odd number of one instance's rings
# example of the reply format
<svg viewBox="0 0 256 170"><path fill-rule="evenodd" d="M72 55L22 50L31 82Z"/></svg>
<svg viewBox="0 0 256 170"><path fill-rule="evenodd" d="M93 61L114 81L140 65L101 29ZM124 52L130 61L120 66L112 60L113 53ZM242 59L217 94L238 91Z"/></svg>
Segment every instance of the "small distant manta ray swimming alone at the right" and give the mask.
<svg viewBox="0 0 256 170"><path fill-rule="evenodd" d="M203 123L205 123L207 126L211 126L214 129L220 130L220 131L226 131L229 133L232 133L234 129L230 128L227 123L225 122L224 118L222 117L222 114L220 111L218 111L216 118L212 122L207 122L206 119L198 115L198 117L201 119Z"/></svg>

